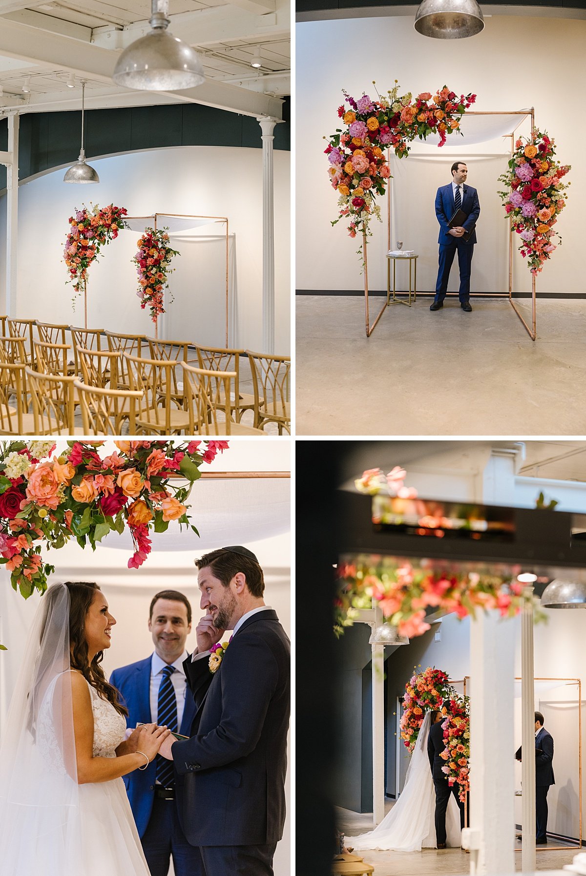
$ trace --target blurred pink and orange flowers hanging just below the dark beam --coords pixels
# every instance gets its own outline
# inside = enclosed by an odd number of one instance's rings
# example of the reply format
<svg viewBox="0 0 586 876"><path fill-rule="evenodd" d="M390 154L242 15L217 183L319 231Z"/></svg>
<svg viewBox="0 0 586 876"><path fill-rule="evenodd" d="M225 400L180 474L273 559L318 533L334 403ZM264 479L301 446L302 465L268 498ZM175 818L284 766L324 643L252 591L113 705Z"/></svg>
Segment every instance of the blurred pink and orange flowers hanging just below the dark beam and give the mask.
<svg viewBox="0 0 586 876"><path fill-rule="evenodd" d="M533 606L536 621L545 617L538 597L526 595L523 585L512 576L448 569L429 560L409 562L394 557L356 557L337 564L338 589L335 597L334 631L340 636L352 626L361 609L376 600L385 619L399 629L399 635L413 639L430 628L425 620L427 606L458 618L475 617L477 609L497 609L501 617L519 614L526 604Z"/></svg>

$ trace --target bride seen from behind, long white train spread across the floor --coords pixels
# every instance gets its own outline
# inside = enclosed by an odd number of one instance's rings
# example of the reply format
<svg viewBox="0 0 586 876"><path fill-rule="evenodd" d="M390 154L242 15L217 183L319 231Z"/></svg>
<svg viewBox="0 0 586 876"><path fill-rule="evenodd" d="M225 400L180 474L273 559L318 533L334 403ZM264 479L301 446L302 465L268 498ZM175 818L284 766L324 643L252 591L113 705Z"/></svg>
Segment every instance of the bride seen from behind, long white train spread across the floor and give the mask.
<svg viewBox="0 0 586 876"><path fill-rule="evenodd" d="M427 737L431 712L426 712L407 769L405 788L399 800L374 830L358 837L346 837L344 842L355 849L392 849L421 851L435 849L435 789L427 757ZM460 845L460 810L454 796L449 795L446 812L448 846Z"/></svg>

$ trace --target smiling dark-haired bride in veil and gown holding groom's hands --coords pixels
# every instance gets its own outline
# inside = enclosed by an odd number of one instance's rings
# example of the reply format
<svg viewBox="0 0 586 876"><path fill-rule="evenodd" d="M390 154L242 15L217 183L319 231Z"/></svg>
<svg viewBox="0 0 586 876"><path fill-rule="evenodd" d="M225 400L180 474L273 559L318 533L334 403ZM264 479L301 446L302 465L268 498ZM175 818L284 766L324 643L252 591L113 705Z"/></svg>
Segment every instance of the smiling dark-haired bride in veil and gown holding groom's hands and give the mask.
<svg viewBox="0 0 586 876"><path fill-rule="evenodd" d="M122 776L170 731L125 739L127 714L100 662L116 624L95 583L41 599L0 748L3 876L149 876Z"/></svg>

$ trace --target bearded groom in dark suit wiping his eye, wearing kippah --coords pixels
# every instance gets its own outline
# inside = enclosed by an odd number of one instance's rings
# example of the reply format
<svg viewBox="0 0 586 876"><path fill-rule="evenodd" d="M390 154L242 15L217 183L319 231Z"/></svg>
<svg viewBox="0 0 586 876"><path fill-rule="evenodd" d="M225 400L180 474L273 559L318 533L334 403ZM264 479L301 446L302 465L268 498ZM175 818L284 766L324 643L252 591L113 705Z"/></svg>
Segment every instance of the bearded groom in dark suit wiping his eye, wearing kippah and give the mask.
<svg viewBox="0 0 586 876"><path fill-rule="evenodd" d="M170 737L160 753L173 759L183 829L206 876L272 876L285 823L289 639L250 550L220 548L196 566L206 614L184 667L197 712L191 738Z"/></svg>

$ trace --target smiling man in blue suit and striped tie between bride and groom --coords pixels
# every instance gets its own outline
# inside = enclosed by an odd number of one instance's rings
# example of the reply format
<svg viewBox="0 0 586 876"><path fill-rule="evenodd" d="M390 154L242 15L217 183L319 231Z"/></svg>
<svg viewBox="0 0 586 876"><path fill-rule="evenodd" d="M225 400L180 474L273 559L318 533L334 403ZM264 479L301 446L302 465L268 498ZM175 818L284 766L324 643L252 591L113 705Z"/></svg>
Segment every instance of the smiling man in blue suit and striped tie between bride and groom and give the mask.
<svg viewBox="0 0 586 876"><path fill-rule="evenodd" d="M146 660L115 669L110 683L121 692L129 710L128 727L166 724L188 736L195 705L192 697L186 696L183 670L185 643L191 632L187 597L177 590L157 593L151 602L149 630L154 653ZM158 755L146 769L125 775L124 784L152 876L166 876L172 855L176 876L197 876L203 872L201 857L181 830L170 767L168 760Z"/></svg>

